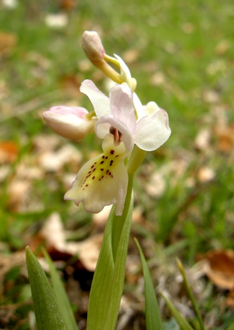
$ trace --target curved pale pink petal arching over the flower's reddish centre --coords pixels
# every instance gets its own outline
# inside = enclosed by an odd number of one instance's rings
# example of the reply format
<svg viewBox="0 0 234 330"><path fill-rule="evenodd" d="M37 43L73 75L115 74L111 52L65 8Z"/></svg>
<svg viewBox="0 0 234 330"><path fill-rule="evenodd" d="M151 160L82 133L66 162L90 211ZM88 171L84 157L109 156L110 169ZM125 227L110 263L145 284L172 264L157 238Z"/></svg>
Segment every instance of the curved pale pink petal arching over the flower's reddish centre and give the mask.
<svg viewBox="0 0 234 330"><path fill-rule="evenodd" d="M103 139L109 133L110 126L115 127L122 133L121 141L124 142L125 148L131 152L134 146L132 134L123 121L112 115L102 116L95 125L95 132L98 138Z"/></svg>

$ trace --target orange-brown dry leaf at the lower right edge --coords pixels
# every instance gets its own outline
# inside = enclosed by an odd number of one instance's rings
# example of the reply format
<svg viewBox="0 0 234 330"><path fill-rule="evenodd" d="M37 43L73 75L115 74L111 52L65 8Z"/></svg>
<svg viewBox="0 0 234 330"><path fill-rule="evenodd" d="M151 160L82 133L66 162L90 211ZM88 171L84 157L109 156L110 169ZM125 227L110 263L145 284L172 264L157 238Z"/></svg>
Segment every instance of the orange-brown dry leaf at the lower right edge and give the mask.
<svg viewBox="0 0 234 330"><path fill-rule="evenodd" d="M211 250L198 255L199 259L207 259L209 267L205 272L209 279L217 286L234 290L234 251Z"/></svg>

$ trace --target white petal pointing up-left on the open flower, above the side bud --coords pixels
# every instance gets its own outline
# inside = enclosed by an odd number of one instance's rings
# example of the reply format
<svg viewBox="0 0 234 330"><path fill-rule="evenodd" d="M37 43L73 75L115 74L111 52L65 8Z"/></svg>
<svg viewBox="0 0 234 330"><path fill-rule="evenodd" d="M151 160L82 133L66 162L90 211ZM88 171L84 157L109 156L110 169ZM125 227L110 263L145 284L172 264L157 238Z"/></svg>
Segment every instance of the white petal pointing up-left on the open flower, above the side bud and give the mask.
<svg viewBox="0 0 234 330"><path fill-rule="evenodd" d="M100 92L92 80L87 79L83 81L80 87L80 91L89 97L98 118L110 114L109 98Z"/></svg>

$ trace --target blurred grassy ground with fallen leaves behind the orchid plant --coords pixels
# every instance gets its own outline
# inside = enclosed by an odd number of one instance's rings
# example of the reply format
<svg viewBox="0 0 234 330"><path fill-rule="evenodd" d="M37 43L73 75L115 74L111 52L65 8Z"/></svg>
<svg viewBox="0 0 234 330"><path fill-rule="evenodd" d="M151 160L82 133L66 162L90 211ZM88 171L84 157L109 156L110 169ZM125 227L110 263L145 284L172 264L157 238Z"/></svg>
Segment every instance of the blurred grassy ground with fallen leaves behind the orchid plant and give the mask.
<svg viewBox="0 0 234 330"><path fill-rule="evenodd" d="M143 104L169 114L172 135L147 153L135 179L134 216L118 330L145 329L137 237L164 329L178 326L168 294L194 323L175 257L185 267L207 329L234 321L234 3L231 0L0 0L0 328L35 329L24 248L46 246L80 330L109 208L97 215L64 201L76 173L101 151L95 136L72 142L43 121L51 106L92 105L80 92L109 79L86 59L84 30L121 56Z"/></svg>

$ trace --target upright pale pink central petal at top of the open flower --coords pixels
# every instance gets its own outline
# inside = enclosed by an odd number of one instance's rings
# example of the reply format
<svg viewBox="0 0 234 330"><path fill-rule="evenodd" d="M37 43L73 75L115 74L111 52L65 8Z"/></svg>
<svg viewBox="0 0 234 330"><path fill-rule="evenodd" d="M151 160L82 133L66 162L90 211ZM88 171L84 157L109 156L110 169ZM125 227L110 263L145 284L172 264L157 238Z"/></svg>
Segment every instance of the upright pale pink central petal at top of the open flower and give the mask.
<svg viewBox="0 0 234 330"><path fill-rule="evenodd" d="M118 85L111 88L109 96L111 115L123 121L133 133L136 128L136 117L131 89L125 85Z"/></svg>

